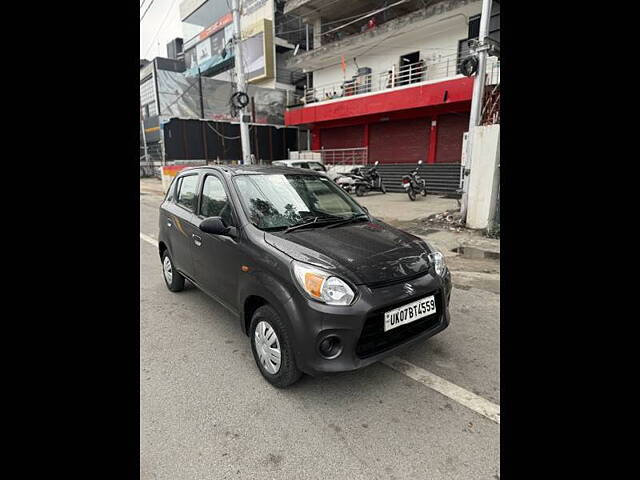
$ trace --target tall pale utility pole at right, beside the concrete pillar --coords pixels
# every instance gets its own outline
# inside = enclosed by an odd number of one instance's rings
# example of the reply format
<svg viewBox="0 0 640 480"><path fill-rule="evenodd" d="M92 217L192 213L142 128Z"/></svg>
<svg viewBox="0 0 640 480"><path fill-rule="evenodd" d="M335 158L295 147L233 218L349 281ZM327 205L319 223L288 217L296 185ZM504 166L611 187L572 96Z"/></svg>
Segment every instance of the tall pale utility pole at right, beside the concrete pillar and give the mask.
<svg viewBox="0 0 640 480"><path fill-rule="evenodd" d="M466 159L462 171L462 206L460 213L462 219L467 219L467 209L469 207L469 178L471 172L471 158L473 154L473 132L480 124L482 114L482 100L484 97L484 81L487 70L487 50L489 44L486 42L491 21L491 0L482 0L482 14L480 16L480 32L478 34L478 45L475 49L478 55L478 72L473 82L473 97L471 98L471 113L469 114L469 135L467 136Z"/></svg>

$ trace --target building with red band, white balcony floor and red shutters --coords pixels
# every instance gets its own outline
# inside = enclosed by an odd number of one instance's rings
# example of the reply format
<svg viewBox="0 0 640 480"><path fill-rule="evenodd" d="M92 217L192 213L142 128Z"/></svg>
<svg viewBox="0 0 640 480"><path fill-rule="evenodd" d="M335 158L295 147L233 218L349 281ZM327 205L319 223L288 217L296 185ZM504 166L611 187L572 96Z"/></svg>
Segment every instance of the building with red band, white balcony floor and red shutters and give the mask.
<svg viewBox="0 0 640 480"><path fill-rule="evenodd" d="M461 74L478 37L480 0L288 0L313 26L311 48L287 60L304 93L286 125L310 128L312 150L361 149L381 164L460 163L473 77ZM500 41L494 0L490 37ZM487 89L499 85L489 57Z"/></svg>

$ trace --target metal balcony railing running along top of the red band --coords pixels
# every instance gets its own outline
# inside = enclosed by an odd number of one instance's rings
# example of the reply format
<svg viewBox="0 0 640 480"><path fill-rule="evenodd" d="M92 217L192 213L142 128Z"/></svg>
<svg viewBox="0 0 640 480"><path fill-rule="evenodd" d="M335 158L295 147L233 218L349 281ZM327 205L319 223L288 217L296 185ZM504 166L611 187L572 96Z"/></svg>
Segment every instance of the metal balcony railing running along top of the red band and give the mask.
<svg viewBox="0 0 640 480"><path fill-rule="evenodd" d="M302 97L292 96L287 106L304 106L338 98L349 98L371 92L383 92L433 80L461 77L458 55L439 56L435 60L395 64L387 71L355 75L349 80L306 88ZM495 57L487 67L487 85L500 83L500 62Z"/></svg>

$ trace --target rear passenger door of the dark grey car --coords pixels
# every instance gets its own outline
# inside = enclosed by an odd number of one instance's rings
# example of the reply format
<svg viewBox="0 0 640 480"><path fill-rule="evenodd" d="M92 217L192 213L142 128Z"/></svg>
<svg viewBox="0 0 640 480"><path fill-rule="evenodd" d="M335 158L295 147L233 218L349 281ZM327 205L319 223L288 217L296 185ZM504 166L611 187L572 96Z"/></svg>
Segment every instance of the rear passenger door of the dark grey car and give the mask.
<svg viewBox="0 0 640 480"><path fill-rule="evenodd" d="M193 236L197 234L194 222L198 178L197 172L179 177L173 200L167 202L163 209L173 263L180 272L191 278L194 275L191 250Z"/></svg>

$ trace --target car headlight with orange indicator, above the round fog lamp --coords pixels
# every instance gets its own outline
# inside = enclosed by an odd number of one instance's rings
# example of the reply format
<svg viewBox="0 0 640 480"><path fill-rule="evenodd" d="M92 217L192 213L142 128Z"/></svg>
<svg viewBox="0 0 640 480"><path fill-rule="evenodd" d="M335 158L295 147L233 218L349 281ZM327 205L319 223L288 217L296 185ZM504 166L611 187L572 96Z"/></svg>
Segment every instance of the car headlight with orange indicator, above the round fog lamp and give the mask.
<svg viewBox="0 0 640 480"><path fill-rule="evenodd" d="M344 280L317 267L294 260L293 274L311 298L328 305L350 305L356 296Z"/></svg>

